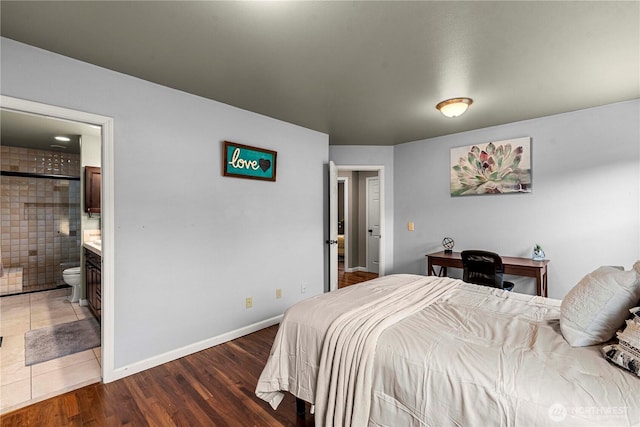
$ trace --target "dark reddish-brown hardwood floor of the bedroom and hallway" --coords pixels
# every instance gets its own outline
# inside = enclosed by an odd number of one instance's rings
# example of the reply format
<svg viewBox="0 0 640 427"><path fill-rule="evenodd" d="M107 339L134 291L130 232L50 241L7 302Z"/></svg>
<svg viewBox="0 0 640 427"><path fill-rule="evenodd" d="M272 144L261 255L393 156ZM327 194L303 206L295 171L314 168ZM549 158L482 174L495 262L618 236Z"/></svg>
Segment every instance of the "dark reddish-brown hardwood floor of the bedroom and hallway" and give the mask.
<svg viewBox="0 0 640 427"><path fill-rule="evenodd" d="M377 277L340 272L339 287ZM277 410L255 395L278 326L109 384L92 384L0 417L2 427L314 426L286 394Z"/></svg>

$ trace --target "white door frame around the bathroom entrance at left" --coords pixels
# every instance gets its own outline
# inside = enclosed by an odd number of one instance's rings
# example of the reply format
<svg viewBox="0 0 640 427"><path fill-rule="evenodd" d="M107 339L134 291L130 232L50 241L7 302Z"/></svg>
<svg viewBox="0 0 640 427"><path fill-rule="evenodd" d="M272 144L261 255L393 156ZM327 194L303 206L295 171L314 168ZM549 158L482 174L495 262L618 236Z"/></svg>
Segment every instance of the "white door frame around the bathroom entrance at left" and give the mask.
<svg viewBox="0 0 640 427"><path fill-rule="evenodd" d="M78 110L0 95L0 107L28 114L81 122L102 127L101 229L102 229L102 382L118 378L114 375L114 120Z"/></svg>

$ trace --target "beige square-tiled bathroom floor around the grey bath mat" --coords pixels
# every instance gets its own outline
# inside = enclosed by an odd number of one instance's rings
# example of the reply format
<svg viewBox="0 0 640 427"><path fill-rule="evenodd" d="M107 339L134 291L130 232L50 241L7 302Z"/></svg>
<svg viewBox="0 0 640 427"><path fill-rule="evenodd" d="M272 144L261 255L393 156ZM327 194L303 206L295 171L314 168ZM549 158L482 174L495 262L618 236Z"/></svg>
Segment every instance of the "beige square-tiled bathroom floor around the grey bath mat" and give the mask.
<svg viewBox="0 0 640 427"><path fill-rule="evenodd" d="M0 414L101 381L100 347L25 366L24 333L92 316L71 289L0 298Z"/></svg>

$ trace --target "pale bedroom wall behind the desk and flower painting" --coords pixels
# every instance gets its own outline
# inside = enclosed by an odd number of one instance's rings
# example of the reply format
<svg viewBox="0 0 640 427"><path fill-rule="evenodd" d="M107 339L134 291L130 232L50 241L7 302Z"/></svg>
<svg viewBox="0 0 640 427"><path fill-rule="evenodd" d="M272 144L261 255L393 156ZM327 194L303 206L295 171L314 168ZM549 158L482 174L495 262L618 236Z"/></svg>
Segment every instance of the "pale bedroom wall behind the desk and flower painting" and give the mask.
<svg viewBox="0 0 640 427"><path fill-rule="evenodd" d="M532 193L450 196L451 147L520 136L532 138ZM640 100L402 144L394 159L396 272L424 273L444 236L456 250L522 257L539 243L549 296L563 298L598 266L640 259ZM535 293L533 280L515 282Z"/></svg>

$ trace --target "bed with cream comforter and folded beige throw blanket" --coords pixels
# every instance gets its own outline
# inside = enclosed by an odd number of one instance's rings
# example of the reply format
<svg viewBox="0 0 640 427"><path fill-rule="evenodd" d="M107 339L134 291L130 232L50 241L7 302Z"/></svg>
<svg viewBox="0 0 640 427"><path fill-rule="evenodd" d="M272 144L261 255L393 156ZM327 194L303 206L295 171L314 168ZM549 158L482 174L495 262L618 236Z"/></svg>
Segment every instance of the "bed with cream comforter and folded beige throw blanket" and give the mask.
<svg viewBox="0 0 640 427"><path fill-rule="evenodd" d="M640 378L569 345L560 317L559 300L381 277L291 307L256 394L311 403L317 426L640 425Z"/></svg>

